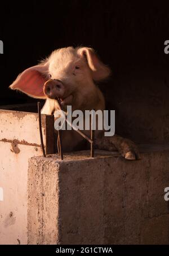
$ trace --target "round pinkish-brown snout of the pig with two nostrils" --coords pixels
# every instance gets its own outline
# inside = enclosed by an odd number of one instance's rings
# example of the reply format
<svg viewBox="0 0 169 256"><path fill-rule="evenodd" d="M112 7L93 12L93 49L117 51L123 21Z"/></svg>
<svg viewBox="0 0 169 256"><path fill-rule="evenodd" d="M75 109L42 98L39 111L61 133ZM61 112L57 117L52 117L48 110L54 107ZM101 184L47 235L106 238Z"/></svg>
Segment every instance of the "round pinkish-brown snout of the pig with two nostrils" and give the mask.
<svg viewBox="0 0 169 256"><path fill-rule="evenodd" d="M65 88L60 80L48 80L44 85L44 93L48 98L61 98L65 93Z"/></svg>

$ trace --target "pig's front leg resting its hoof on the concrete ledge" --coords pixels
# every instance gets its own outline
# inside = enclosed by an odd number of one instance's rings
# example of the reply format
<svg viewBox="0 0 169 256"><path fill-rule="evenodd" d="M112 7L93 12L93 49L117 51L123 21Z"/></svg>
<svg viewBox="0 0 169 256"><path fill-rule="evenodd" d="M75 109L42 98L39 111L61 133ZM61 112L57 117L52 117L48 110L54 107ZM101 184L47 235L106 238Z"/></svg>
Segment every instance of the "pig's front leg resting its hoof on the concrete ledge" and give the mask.
<svg viewBox="0 0 169 256"><path fill-rule="evenodd" d="M97 149L104 150L118 150L121 155L127 160L138 160L140 159L139 150L134 142L128 140L128 138L123 138L118 135L112 137L102 136L95 139L95 145Z"/></svg>

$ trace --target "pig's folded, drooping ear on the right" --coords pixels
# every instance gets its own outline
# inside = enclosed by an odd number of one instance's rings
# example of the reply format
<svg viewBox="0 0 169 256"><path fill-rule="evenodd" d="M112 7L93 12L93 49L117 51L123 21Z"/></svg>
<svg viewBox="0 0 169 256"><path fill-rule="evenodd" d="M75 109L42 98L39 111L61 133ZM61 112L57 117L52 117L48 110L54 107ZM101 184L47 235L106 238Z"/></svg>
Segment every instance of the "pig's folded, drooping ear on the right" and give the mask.
<svg viewBox="0 0 169 256"><path fill-rule="evenodd" d="M101 62L94 49L82 47L78 49L78 54L87 59L95 81L104 80L110 76L110 68Z"/></svg>

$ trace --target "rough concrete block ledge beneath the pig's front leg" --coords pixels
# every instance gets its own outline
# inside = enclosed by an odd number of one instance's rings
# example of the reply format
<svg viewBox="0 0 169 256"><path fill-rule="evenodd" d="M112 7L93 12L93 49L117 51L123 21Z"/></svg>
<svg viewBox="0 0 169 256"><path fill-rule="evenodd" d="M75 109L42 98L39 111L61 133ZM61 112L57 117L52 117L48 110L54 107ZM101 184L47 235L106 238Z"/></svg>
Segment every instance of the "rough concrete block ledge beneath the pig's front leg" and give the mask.
<svg viewBox="0 0 169 256"><path fill-rule="evenodd" d="M168 146L29 159L28 244L168 244Z"/></svg>

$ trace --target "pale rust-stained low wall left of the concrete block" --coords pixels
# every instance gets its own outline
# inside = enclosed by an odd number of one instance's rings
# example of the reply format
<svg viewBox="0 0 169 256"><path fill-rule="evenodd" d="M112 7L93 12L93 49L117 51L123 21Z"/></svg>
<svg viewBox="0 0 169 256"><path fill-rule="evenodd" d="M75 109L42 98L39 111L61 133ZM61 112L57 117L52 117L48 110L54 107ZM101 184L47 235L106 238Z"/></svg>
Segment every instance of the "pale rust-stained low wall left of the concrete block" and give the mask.
<svg viewBox="0 0 169 256"><path fill-rule="evenodd" d="M54 138L51 118L42 115L48 153ZM26 244L28 159L42 155L38 114L0 110L0 123L0 244Z"/></svg>

